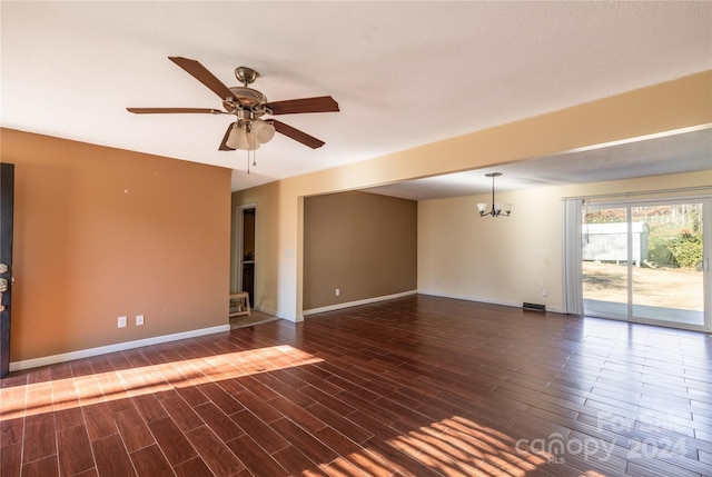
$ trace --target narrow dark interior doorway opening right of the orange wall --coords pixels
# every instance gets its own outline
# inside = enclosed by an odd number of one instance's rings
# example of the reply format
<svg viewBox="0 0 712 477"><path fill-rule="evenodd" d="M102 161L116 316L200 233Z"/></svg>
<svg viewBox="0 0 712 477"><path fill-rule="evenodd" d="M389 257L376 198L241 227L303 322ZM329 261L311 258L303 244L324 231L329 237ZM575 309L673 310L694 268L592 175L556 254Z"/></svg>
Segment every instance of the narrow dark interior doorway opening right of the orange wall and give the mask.
<svg viewBox="0 0 712 477"><path fill-rule="evenodd" d="M237 267L236 282L238 291L249 294L250 307L255 308L255 231L256 231L257 207L240 206L236 210L236 248Z"/></svg>

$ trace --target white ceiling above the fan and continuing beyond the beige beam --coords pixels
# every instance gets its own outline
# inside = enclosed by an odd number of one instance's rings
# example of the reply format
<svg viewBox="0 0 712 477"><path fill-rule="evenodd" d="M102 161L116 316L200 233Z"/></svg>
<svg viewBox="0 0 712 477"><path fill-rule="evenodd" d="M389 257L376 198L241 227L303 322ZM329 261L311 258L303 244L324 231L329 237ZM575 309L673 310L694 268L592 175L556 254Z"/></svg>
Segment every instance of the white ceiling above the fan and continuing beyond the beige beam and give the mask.
<svg viewBox="0 0 712 477"><path fill-rule="evenodd" d="M3 0L0 26L2 127L228 167L234 190L712 69L708 1ZM235 67L248 66L270 101L330 95L340 112L281 116L326 145L313 150L277 135L247 175L245 151L218 151L233 117L126 111L220 108L169 56L200 61L227 86L237 83ZM703 129L507 165L497 185L704 170L711 161ZM478 193L491 187L487 171L465 175L464 188L456 175L446 186L432 178L379 191Z"/></svg>

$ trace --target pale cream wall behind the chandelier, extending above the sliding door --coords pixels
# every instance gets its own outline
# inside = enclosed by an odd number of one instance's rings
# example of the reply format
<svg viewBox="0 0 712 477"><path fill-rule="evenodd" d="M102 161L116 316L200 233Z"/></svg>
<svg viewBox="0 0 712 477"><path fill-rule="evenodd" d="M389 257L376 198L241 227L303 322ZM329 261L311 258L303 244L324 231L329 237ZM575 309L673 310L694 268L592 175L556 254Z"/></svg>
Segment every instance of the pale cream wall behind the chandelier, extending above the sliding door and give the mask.
<svg viewBox="0 0 712 477"><path fill-rule="evenodd" d="M712 171L504 192L497 198L515 208L497 219L476 212L490 196L421 201L418 291L563 311L561 199L703 186Z"/></svg>

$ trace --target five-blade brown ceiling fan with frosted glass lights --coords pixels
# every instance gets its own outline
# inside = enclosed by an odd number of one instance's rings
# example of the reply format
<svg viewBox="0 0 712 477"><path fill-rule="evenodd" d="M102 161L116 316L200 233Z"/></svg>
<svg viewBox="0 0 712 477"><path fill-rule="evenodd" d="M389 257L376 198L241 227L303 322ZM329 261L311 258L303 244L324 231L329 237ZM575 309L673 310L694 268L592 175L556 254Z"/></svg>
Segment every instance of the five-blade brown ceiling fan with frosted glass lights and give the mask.
<svg viewBox="0 0 712 477"><path fill-rule="evenodd" d="M312 149L320 148L324 141L307 135L276 119L261 119L264 115L296 115L303 112L338 111L338 103L330 96L315 98L289 99L285 101L267 101L267 97L256 89L249 88L259 73L251 68L237 67L235 77L243 86L228 88L207 68L196 60L182 57L168 57L174 63L186 70L195 79L208 87L222 100L225 110L211 108L126 108L137 115L155 113L209 113L234 115L233 122L222 137L219 150L231 151L245 149L254 151L261 143L269 141L276 132L283 133Z"/></svg>

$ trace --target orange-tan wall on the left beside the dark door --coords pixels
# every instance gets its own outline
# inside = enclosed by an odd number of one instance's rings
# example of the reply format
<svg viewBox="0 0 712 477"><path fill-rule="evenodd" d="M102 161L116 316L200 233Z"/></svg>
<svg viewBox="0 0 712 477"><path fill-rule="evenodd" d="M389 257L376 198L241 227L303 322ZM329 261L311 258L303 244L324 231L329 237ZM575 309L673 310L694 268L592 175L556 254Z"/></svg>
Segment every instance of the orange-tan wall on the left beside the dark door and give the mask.
<svg viewBox="0 0 712 477"><path fill-rule="evenodd" d="M16 165L11 361L227 325L229 169L0 139Z"/></svg>

